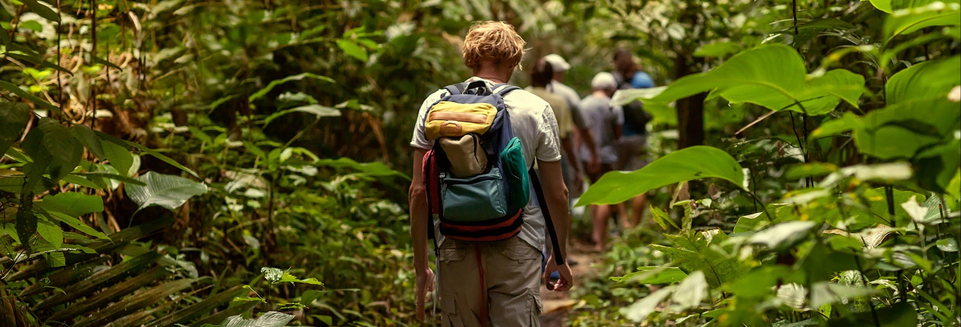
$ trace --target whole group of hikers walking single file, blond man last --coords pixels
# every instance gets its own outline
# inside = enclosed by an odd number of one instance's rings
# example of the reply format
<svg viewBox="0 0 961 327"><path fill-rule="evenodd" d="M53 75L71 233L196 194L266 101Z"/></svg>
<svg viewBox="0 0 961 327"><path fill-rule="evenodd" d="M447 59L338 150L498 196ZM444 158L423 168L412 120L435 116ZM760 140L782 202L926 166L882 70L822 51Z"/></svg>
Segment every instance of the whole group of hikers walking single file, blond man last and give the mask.
<svg viewBox="0 0 961 327"><path fill-rule="evenodd" d="M583 175L593 182L644 165L649 116L640 103L611 105L617 89L653 86L630 52L618 49L613 71L595 75L581 99L555 54L534 60L527 88L509 84L525 44L505 22L476 23L462 49L473 77L432 93L418 112L409 213L420 320L433 292L444 326L538 326L540 286L574 285L568 190L582 191ZM598 250L612 213L636 225L645 200L632 199L629 216L627 203L591 207Z"/></svg>

